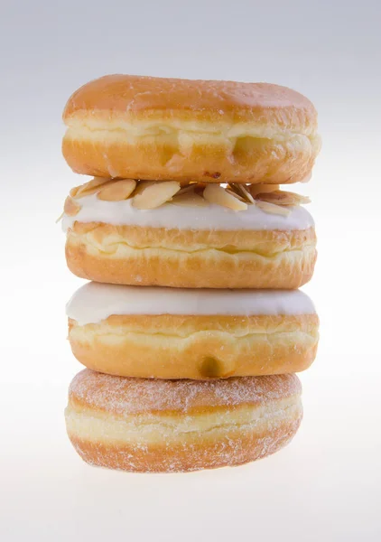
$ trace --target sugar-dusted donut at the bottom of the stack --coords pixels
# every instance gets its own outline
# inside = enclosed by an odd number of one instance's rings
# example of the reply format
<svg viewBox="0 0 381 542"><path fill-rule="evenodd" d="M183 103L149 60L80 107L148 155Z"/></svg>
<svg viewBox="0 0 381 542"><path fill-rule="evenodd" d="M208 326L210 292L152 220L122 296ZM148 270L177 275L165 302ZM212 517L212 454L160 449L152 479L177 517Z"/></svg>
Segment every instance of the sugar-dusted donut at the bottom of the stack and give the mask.
<svg viewBox="0 0 381 542"><path fill-rule="evenodd" d="M92 465L187 472L248 463L279 450L302 420L291 375L149 380L85 369L65 411L71 443Z"/></svg>

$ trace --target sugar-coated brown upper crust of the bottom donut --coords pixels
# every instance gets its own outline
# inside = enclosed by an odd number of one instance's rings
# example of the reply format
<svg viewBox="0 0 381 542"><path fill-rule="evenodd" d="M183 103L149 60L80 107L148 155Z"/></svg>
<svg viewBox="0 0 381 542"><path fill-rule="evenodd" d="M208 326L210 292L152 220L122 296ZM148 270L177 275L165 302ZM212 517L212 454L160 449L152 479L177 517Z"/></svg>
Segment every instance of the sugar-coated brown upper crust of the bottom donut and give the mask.
<svg viewBox="0 0 381 542"><path fill-rule="evenodd" d="M69 397L84 406L123 416L163 411L185 414L202 407L259 406L301 393L301 382L293 374L226 380L150 380L84 369L72 380Z"/></svg>

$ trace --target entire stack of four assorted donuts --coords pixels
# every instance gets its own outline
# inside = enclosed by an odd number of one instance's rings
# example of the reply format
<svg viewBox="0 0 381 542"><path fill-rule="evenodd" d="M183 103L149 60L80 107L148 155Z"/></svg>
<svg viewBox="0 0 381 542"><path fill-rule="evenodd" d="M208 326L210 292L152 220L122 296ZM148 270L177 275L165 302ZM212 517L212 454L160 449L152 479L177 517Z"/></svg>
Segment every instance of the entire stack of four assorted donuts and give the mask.
<svg viewBox="0 0 381 542"><path fill-rule="evenodd" d="M295 372L319 320L297 288L316 236L317 114L266 83L113 75L70 97L63 154L89 175L62 216L67 305L86 367L68 435L90 464L186 472L279 450L302 419Z"/></svg>

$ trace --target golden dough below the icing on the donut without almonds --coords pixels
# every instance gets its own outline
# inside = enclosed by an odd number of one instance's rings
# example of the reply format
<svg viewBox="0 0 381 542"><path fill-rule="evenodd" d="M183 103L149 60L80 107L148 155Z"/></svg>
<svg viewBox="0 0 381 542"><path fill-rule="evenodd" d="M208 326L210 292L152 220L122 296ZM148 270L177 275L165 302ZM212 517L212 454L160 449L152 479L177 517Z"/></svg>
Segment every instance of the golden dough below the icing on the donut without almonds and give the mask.
<svg viewBox="0 0 381 542"><path fill-rule="evenodd" d="M69 320L74 356L122 377L228 378L299 372L318 345L316 314L298 316L113 315Z"/></svg>

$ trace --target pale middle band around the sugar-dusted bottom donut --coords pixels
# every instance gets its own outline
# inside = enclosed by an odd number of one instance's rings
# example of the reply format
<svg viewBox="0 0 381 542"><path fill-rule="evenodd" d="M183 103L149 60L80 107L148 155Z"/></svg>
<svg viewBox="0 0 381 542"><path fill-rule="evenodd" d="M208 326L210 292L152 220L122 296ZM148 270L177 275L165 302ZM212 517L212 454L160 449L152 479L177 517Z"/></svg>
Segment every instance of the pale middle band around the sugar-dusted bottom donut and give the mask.
<svg viewBox="0 0 381 542"><path fill-rule="evenodd" d="M93 409L68 406L66 426L70 436L102 444L176 444L196 438L215 439L231 432L258 434L274 431L302 415L300 397L287 397L262 406L240 406L198 415L141 414L112 416Z"/></svg>

